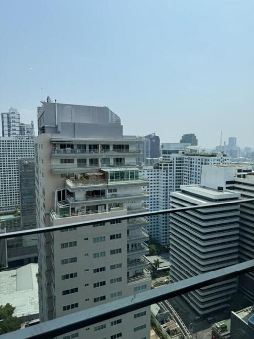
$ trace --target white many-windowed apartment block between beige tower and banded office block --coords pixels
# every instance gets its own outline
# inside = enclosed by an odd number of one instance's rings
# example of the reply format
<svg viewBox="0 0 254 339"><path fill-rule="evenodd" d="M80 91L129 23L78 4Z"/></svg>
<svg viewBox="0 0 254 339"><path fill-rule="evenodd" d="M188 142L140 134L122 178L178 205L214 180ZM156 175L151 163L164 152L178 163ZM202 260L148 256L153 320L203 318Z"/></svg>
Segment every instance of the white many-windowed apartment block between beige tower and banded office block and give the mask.
<svg viewBox="0 0 254 339"><path fill-rule="evenodd" d="M162 146L162 158L159 163L140 170L140 173L149 180L147 203L150 210L169 209L171 192L179 191L183 184L200 184L203 165L230 164L231 162L230 157L220 153L217 155L192 153L197 151L197 147L189 146L189 144L167 143ZM169 245L169 215L150 217L148 227L147 231L151 237L156 238L162 245Z"/></svg>

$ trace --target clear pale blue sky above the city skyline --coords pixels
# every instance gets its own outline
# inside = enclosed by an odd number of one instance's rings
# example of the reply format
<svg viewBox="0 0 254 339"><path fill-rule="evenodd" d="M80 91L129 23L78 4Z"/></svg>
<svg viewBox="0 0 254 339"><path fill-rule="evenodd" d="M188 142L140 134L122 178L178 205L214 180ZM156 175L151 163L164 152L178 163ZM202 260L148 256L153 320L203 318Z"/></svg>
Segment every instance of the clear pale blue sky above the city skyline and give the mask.
<svg viewBox="0 0 254 339"><path fill-rule="evenodd" d="M0 112L36 122L49 95L108 106L127 135L212 148L222 130L254 147L253 13L253 0L2 0Z"/></svg>

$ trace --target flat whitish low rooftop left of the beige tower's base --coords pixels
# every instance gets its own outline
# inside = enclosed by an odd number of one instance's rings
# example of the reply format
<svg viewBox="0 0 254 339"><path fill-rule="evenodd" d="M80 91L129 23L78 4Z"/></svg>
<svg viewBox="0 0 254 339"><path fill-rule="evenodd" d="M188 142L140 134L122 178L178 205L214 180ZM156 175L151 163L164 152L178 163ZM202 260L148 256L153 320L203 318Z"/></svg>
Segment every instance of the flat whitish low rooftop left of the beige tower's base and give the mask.
<svg viewBox="0 0 254 339"><path fill-rule="evenodd" d="M37 272L38 264L0 272L0 305L11 301L14 316L39 314Z"/></svg>

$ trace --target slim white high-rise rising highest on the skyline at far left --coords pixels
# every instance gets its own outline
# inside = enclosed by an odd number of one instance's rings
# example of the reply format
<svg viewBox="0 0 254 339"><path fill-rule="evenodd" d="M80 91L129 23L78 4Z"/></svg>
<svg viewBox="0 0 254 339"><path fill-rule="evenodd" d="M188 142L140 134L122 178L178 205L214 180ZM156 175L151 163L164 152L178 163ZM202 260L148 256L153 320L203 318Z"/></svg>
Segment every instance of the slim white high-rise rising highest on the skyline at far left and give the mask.
<svg viewBox="0 0 254 339"><path fill-rule="evenodd" d="M20 116L18 111L11 107L9 112L2 112L2 136L18 135L20 135Z"/></svg>

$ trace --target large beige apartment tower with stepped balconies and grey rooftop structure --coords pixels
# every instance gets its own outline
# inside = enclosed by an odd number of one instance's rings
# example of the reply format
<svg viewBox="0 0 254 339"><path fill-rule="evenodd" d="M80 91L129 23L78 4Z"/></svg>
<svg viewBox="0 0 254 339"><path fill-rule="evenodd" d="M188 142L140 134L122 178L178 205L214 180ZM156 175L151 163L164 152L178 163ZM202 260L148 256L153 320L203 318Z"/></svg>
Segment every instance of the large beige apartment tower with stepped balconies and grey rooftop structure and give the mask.
<svg viewBox="0 0 254 339"><path fill-rule="evenodd" d="M70 225L40 236L41 321L150 289L147 219L71 226L147 210L137 139L123 136L120 118L107 107L44 103L38 128L37 223ZM150 308L58 338L76 337L148 339Z"/></svg>

